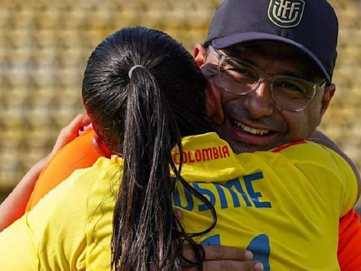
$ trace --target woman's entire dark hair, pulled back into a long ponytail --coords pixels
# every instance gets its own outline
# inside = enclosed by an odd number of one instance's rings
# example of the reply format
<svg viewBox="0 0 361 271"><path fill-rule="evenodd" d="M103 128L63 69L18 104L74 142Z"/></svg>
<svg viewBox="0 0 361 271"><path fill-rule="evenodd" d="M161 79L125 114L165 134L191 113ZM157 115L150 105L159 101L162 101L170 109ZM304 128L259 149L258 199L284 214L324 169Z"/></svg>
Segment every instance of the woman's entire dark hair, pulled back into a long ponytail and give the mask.
<svg viewBox="0 0 361 271"><path fill-rule="evenodd" d="M141 66L128 75L135 65ZM181 178L171 150L181 150L182 136L212 131L205 84L192 56L158 30L118 30L90 56L82 85L85 108L109 150L123 157L111 240L114 270L181 270L184 240L202 268L202 248L173 215L176 182L210 203Z"/></svg>

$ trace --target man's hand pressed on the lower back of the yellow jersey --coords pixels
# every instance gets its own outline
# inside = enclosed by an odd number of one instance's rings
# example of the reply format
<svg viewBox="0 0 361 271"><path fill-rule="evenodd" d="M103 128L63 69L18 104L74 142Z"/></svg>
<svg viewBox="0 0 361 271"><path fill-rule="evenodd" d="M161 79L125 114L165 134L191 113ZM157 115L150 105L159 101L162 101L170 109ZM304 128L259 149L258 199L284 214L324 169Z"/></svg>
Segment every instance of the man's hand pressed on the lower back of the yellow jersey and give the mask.
<svg viewBox="0 0 361 271"><path fill-rule="evenodd" d="M204 246L205 261L204 271L262 271L263 265L252 260L253 254L241 248L228 246ZM183 246L185 258L195 261L193 250L190 246ZM183 271L196 271L197 267L183 267Z"/></svg>

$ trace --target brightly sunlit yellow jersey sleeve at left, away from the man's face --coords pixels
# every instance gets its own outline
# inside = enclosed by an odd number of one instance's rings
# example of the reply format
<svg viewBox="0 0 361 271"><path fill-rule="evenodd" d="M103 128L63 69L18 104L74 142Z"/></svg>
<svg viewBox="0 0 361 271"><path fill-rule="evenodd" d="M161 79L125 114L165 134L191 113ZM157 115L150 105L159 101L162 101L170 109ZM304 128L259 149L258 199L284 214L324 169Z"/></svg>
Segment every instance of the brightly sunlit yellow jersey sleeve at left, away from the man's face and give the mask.
<svg viewBox="0 0 361 271"><path fill-rule="evenodd" d="M33 210L1 231L0 270L77 270L87 201L87 184L79 181L87 171L75 171Z"/></svg>

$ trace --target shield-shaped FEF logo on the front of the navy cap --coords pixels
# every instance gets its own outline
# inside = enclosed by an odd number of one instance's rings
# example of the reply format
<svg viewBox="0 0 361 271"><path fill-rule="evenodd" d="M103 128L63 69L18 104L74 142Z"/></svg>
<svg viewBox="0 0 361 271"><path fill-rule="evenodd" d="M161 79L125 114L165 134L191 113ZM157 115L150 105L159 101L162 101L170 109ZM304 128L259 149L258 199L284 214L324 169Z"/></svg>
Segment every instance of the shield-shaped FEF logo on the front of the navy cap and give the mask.
<svg viewBox="0 0 361 271"><path fill-rule="evenodd" d="M280 28L293 28L300 23L304 8L303 0L271 0L268 17Z"/></svg>

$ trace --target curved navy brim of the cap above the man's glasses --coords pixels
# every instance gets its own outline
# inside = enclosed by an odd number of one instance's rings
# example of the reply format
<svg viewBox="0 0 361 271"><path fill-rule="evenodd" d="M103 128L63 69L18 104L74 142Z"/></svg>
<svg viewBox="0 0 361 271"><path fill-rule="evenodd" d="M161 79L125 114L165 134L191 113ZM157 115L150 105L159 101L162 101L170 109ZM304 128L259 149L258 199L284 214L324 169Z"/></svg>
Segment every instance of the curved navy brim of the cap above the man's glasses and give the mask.
<svg viewBox="0 0 361 271"><path fill-rule="evenodd" d="M212 40L212 47L216 49L224 49L226 47L231 47L235 44L240 44L242 42L251 42L255 40L274 40L279 42L284 42L286 44L293 45L294 47L300 49L302 52L310 56L310 58L319 66L324 76L326 76L327 82L331 83L331 76L327 73L326 68L322 64L322 62L315 56L307 47L295 42L294 40L290 40L286 37L280 37L278 35L272 35L267 33L259 33L259 32L243 32L236 33L232 35L227 35L225 37L219 37L218 39Z"/></svg>

